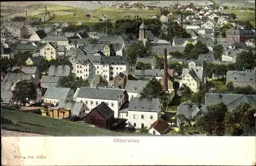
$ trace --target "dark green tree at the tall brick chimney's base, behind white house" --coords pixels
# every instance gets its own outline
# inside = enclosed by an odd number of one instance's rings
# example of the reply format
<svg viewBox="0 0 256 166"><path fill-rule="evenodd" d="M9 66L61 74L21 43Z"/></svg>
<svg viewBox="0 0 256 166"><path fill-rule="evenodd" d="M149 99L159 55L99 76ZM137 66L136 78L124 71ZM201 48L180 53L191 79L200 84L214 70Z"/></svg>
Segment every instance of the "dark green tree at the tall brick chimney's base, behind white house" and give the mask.
<svg viewBox="0 0 256 166"><path fill-rule="evenodd" d="M153 77L140 92L141 98L160 98L162 104L166 104L166 93L160 81Z"/></svg>

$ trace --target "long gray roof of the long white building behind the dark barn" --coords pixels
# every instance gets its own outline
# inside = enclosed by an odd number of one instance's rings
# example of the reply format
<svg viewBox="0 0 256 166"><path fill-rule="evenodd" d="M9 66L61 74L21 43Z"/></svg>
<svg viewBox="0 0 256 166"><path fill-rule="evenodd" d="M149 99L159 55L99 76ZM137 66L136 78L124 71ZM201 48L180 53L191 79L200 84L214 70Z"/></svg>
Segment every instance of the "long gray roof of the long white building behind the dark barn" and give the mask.
<svg viewBox="0 0 256 166"><path fill-rule="evenodd" d="M88 87L77 88L75 93L77 94L76 97L103 100L118 100L120 98L120 95L123 95L122 90L100 88L97 89Z"/></svg>

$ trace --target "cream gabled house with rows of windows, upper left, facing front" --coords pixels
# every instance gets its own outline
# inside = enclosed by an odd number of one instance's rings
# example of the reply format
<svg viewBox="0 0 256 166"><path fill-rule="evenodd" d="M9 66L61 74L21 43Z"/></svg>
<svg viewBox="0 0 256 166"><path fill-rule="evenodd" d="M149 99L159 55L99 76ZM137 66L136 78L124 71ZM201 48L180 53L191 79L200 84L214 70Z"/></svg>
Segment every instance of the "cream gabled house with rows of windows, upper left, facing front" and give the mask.
<svg viewBox="0 0 256 166"><path fill-rule="evenodd" d="M44 44L40 49L40 56L50 61L58 57L58 49L51 42Z"/></svg>

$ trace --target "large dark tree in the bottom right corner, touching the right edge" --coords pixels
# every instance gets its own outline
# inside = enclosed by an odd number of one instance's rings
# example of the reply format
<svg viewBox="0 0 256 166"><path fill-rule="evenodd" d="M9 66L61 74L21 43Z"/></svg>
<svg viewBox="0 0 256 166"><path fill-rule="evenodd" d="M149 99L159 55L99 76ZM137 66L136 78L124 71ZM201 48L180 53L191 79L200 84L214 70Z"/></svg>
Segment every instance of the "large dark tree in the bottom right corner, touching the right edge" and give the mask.
<svg viewBox="0 0 256 166"><path fill-rule="evenodd" d="M225 116L225 133L232 136L255 136L256 107L249 103L240 103Z"/></svg>

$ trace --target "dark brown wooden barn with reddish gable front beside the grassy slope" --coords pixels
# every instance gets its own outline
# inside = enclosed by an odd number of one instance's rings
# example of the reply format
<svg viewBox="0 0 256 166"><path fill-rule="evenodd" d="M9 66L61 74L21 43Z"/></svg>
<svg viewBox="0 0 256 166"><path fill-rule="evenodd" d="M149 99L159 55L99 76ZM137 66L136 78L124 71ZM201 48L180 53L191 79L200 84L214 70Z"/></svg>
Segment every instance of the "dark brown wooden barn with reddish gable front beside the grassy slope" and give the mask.
<svg viewBox="0 0 256 166"><path fill-rule="evenodd" d="M109 129L115 123L114 110L102 102L91 110L85 121L95 127Z"/></svg>

